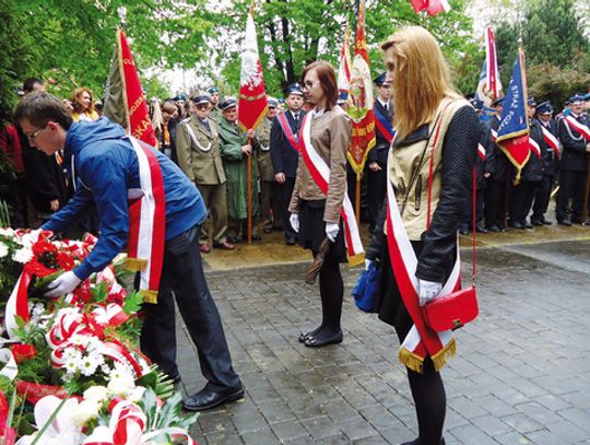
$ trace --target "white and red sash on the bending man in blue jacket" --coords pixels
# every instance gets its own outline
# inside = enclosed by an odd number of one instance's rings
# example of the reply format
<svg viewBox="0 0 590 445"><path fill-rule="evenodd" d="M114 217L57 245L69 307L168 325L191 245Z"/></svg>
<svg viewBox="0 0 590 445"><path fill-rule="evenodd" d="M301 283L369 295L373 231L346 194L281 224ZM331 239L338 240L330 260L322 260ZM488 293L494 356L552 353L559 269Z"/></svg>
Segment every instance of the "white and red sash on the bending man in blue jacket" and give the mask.
<svg viewBox="0 0 590 445"><path fill-rule="evenodd" d="M162 168L149 145L129 138L138 156L142 195L129 202L129 242L126 267L141 272L140 292L146 303L157 302L166 243L166 196Z"/></svg>

